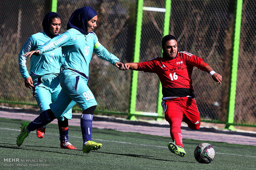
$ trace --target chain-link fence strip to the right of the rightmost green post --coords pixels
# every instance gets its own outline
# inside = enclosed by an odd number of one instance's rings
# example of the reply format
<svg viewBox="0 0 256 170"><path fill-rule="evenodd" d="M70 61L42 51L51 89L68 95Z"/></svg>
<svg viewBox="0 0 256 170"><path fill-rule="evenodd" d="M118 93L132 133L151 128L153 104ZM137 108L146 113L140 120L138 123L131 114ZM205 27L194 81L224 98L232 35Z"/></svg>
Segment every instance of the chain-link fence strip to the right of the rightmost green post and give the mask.
<svg viewBox="0 0 256 170"><path fill-rule="evenodd" d="M256 124L256 1L244 0L242 9L235 122Z"/></svg>

